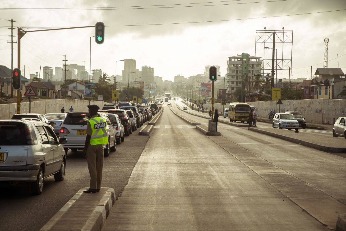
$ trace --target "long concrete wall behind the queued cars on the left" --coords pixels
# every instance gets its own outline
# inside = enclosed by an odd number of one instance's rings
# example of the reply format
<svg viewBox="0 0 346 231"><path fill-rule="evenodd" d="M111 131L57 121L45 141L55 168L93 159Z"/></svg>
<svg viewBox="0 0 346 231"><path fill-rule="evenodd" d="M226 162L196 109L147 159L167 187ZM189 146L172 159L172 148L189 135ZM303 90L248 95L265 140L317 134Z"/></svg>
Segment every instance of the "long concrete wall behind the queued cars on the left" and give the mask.
<svg viewBox="0 0 346 231"><path fill-rule="evenodd" d="M102 108L103 101L90 101L90 104L96 104ZM88 100L80 99L51 99L31 102L31 113L54 113L61 112L61 108L65 108L65 112L70 112L69 108L72 106L74 112L87 112ZM29 113L29 102L20 104L20 113ZM17 114L17 104L1 104L0 105L0 118L10 119L12 115Z"/></svg>

